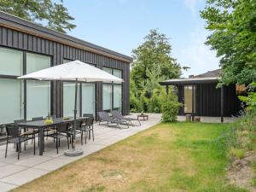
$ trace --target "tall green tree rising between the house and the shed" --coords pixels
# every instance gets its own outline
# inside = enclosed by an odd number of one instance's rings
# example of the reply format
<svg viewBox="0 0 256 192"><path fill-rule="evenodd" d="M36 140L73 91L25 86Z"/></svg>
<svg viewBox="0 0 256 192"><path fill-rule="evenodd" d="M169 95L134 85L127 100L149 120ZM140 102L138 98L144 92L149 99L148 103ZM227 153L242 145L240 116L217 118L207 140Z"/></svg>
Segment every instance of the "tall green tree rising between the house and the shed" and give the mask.
<svg viewBox="0 0 256 192"><path fill-rule="evenodd" d="M171 55L172 46L166 35L156 29L150 30L143 44L132 50L131 79L137 91L159 80L178 78L181 67ZM152 82L152 80L156 82ZM155 87L148 88L153 90Z"/></svg>

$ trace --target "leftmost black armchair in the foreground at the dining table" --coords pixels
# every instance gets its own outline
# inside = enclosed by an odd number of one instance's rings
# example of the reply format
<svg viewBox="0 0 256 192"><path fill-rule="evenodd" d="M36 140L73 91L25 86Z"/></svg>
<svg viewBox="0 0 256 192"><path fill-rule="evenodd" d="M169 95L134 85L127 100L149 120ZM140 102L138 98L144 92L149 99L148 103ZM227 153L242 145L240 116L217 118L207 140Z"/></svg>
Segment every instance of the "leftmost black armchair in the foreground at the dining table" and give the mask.
<svg viewBox="0 0 256 192"><path fill-rule="evenodd" d="M21 143L25 143L26 141L31 139L34 140L34 154L36 154L36 146L35 146L36 141L35 141L35 134L33 133L33 131L26 131L21 133L18 126L6 125L6 132L7 132L7 140L6 140L5 158L7 157L8 143L14 143L17 147L18 160L20 160ZM26 150L26 143L24 145L24 149Z"/></svg>

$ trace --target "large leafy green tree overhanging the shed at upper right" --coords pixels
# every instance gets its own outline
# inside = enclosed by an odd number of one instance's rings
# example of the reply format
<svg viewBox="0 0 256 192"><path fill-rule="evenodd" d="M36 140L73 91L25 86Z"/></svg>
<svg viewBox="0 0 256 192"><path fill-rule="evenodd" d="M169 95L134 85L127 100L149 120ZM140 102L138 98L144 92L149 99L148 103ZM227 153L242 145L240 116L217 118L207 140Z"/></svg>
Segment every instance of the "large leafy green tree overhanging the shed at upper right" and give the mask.
<svg viewBox="0 0 256 192"><path fill-rule="evenodd" d="M208 0L201 17L212 32L206 44L221 58L221 81L256 81L256 1Z"/></svg>

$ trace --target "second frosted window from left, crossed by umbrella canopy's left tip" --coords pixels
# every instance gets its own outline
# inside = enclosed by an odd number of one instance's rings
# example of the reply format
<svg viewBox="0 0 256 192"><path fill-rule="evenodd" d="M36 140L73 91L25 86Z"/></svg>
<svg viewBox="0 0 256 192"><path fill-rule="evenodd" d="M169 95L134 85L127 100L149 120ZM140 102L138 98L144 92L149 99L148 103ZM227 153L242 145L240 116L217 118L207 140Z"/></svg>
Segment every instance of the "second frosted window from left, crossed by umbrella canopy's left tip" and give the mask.
<svg viewBox="0 0 256 192"><path fill-rule="evenodd" d="M26 54L26 73L50 67L50 57ZM50 113L50 83L46 81L26 81L26 119L47 116Z"/></svg>

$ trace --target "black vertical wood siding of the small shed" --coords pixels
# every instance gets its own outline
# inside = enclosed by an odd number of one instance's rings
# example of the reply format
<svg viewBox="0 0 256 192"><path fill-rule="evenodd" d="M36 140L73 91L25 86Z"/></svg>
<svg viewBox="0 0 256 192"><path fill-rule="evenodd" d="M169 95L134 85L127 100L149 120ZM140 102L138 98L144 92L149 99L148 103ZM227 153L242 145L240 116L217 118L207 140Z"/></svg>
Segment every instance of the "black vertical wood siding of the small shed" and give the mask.
<svg viewBox="0 0 256 192"><path fill-rule="evenodd" d="M178 102L183 103L183 86L177 86ZM220 117L220 88L217 84L195 84L195 115ZM241 102L236 96L236 85L224 86L224 116L236 115L241 110ZM184 115L183 108L179 111Z"/></svg>

